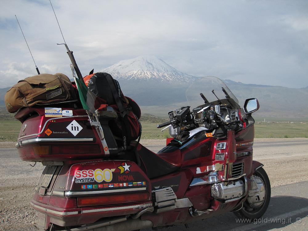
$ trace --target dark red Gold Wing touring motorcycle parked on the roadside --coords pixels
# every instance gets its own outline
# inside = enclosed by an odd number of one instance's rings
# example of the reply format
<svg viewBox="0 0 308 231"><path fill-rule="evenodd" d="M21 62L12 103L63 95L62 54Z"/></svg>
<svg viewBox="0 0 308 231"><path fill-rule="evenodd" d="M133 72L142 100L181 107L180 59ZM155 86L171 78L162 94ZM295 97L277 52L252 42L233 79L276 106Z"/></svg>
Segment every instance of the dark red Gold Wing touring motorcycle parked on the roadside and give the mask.
<svg viewBox="0 0 308 231"><path fill-rule="evenodd" d="M243 109L216 77L204 77L186 92L188 105L170 111L172 138L153 153L138 142L112 150L108 121L73 102L53 105L63 117L47 117L43 106L16 115L22 128L16 147L24 161L45 167L31 205L41 230L138 230L168 227L234 212L259 218L270 202L270 181L253 161L257 99ZM64 114L63 114L64 115ZM89 119L90 118L90 119Z"/></svg>

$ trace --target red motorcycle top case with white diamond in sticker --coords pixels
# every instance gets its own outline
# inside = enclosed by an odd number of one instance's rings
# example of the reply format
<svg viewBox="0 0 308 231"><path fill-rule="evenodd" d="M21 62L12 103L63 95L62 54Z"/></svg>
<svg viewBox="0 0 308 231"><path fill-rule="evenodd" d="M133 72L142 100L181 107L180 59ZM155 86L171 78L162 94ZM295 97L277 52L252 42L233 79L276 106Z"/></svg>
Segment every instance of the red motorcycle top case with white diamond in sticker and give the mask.
<svg viewBox="0 0 308 231"><path fill-rule="evenodd" d="M23 108L15 118L22 122L16 144L24 161L98 159L105 155L96 130L83 109L59 108L69 116L49 117L46 108Z"/></svg>

